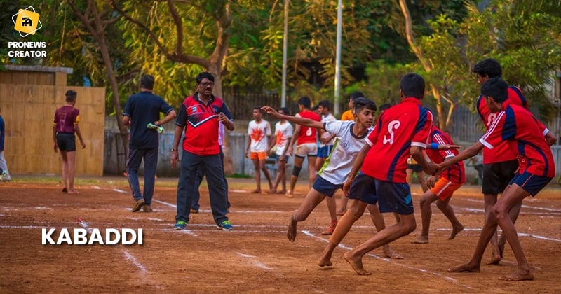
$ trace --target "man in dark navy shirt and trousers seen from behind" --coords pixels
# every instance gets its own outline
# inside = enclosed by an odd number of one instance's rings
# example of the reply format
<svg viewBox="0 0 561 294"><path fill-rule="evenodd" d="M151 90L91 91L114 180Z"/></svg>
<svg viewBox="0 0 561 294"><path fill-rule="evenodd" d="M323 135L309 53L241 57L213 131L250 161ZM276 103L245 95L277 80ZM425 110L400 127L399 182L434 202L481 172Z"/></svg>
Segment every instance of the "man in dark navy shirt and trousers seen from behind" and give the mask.
<svg viewBox="0 0 561 294"><path fill-rule="evenodd" d="M127 178L130 191L133 193L133 212L140 209L144 212L152 212L151 203L154 195L154 177L158 166L160 138L158 131L148 126L153 124L159 127L177 116L168 102L152 93L153 89L154 77L142 76L140 93L128 97L123 110L123 123L130 125ZM165 113L165 118L160 119L160 113ZM140 193L138 169L142 160L144 160L144 192Z"/></svg>

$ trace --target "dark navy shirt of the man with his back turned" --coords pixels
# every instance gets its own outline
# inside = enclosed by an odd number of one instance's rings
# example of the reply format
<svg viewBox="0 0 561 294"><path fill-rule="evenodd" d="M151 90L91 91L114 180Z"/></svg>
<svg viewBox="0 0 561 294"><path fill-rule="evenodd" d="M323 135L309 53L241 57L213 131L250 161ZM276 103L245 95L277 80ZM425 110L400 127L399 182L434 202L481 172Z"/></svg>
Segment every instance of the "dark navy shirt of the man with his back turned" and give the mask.
<svg viewBox="0 0 561 294"><path fill-rule="evenodd" d="M158 132L147 128L149 123L160 120L160 113L166 115L173 109L162 97L152 92L139 92L128 97L123 116L130 117L130 148L157 148Z"/></svg>

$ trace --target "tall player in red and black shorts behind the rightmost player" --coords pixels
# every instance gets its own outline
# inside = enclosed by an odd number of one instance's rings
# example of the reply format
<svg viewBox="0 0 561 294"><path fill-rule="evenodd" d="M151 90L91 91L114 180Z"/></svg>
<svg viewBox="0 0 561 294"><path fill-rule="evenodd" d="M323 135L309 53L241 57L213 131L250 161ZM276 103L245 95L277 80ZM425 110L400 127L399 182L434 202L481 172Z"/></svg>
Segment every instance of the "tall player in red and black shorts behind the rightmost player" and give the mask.
<svg viewBox="0 0 561 294"><path fill-rule="evenodd" d="M503 74L501 64L492 58L483 59L478 62L473 66L472 71L477 76L477 82L480 85L485 83L489 78L501 78ZM518 87L508 87L508 100L512 104L528 109L528 103L525 97L522 96L522 92L520 92ZM496 113L489 111L483 95L479 96L476 105L486 130L489 130L489 127L496 118ZM497 195L502 193L511 179L513 179L518 169L518 160L516 159L516 154L508 148L508 144L503 142L503 144L496 146L496 148L485 148L483 150L483 165L483 195L485 200L485 219L487 219L491 207L496 203ZM513 210L509 212L509 216L511 216L513 222L518 218L521 205L522 203L515 205ZM495 233L494 237L491 239L493 256L488 262L489 264L499 264L503 255L505 241L504 237L501 237L501 240L497 241Z"/></svg>

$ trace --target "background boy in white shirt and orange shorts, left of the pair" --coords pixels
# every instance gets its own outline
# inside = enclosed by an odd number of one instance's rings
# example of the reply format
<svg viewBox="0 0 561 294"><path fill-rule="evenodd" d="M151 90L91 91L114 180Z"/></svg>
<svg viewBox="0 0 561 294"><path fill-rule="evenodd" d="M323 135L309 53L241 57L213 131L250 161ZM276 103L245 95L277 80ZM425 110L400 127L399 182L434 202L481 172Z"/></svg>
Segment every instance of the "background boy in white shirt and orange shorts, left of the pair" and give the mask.
<svg viewBox="0 0 561 294"><path fill-rule="evenodd" d="M253 108L253 118L248 125L248 146L245 148L245 158L250 158L255 167L255 183L257 188L251 193L261 193L261 171L269 182L269 190L273 189L271 175L266 168L267 151L271 148L271 124L262 118L261 109Z"/></svg>

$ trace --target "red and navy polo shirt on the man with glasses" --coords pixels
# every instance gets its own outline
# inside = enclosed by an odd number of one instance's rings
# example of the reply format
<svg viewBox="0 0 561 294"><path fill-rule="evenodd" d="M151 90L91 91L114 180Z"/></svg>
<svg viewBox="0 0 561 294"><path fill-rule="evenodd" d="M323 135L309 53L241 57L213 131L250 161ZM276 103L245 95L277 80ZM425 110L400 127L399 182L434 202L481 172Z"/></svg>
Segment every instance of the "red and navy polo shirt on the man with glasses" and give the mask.
<svg viewBox="0 0 561 294"><path fill-rule="evenodd" d="M175 125L185 127L184 151L196 155L220 153L218 144L220 122L217 116L221 112L230 120L232 119L228 107L219 97L211 96L208 104L198 99L198 93L184 100L175 119Z"/></svg>

